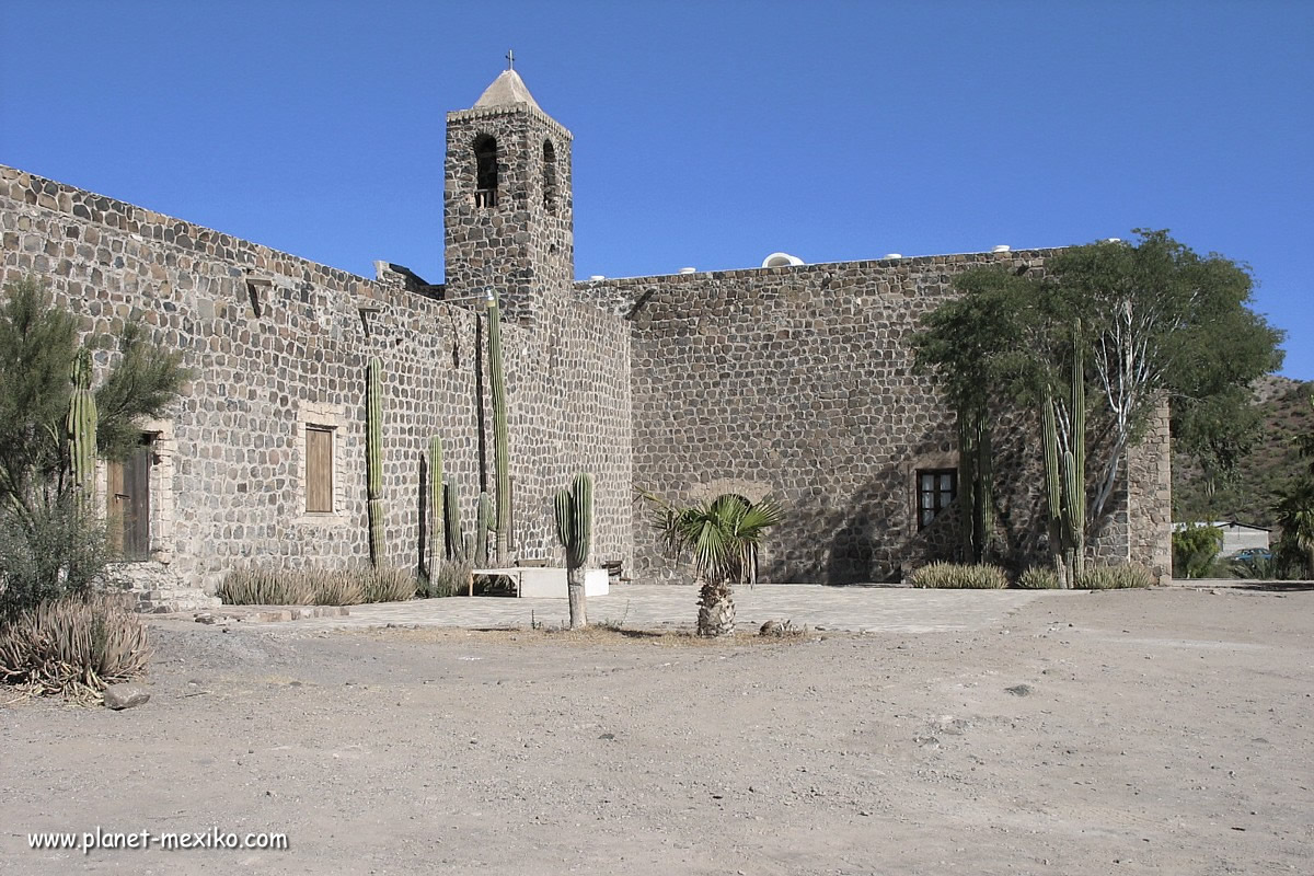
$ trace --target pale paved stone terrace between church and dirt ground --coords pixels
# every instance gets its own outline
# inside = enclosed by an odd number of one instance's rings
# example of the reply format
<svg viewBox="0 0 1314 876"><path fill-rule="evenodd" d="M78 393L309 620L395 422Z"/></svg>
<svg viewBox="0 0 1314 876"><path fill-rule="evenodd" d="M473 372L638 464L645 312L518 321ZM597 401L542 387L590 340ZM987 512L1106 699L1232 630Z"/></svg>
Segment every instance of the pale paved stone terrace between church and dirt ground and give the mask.
<svg viewBox="0 0 1314 876"><path fill-rule="evenodd" d="M735 591L740 629L756 630L767 620L848 632L926 633L970 630L996 625L1042 594L1024 590L912 590L892 587L823 587L819 584L758 584ZM619 584L606 596L589 598L589 620L625 629L692 628L696 617L692 587ZM556 625L569 620L565 599L452 596L407 603L352 605L346 617L310 617L261 629L296 632L367 626L528 628L531 621Z"/></svg>

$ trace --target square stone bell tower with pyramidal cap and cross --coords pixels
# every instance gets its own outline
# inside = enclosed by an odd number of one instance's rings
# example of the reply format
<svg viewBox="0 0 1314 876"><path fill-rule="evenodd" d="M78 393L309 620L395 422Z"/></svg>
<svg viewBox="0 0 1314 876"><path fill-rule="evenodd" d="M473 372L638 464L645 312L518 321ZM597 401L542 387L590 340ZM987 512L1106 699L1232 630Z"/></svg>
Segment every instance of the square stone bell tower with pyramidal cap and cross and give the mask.
<svg viewBox="0 0 1314 876"><path fill-rule="evenodd" d="M474 106L447 114L447 297L491 285L505 319L532 323L574 281L572 137L511 60Z"/></svg>

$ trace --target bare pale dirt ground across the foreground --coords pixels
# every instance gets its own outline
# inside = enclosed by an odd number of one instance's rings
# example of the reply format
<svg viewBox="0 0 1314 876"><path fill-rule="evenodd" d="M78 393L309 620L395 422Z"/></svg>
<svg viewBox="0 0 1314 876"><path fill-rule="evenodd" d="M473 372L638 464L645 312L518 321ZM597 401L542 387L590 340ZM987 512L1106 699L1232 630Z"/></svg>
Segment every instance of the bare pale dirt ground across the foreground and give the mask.
<svg viewBox="0 0 1314 876"><path fill-rule="evenodd" d="M293 626L160 625L137 709L0 708L0 872L1314 872L1307 590L769 644ZM28 847L96 826L290 848Z"/></svg>

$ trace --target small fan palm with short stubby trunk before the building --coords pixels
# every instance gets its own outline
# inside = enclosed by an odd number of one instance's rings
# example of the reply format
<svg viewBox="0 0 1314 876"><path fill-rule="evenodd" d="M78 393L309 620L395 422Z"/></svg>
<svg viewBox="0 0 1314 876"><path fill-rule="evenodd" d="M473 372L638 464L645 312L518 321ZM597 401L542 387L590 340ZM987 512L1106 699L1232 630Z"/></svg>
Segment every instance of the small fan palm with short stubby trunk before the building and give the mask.
<svg viewBox="0 0 1314 876"><path fill-rule="evenodd" d="M757 580L757 552L766 529L781 521L781 508L770 499L757 504L741 495L724 494L711 502L677 508L644 493L653 503L653 527L668 553L686 552L694 563L698 591L698 634L735 633L735 582Z"/></svg>

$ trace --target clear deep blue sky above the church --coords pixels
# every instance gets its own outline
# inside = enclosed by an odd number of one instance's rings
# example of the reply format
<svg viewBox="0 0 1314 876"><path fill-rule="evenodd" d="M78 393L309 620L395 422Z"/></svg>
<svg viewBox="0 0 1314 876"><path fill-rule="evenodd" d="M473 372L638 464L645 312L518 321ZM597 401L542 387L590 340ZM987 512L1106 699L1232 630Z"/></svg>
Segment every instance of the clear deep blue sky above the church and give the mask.
<svg viewBox="0 0 1314 876"><path fill-rule="evenodd" d="M0 12L0 163L442 278L444 113L507 49L576 273L1085 243L1250 264L1314 380L1314 3L76 3Z"/></svg>

